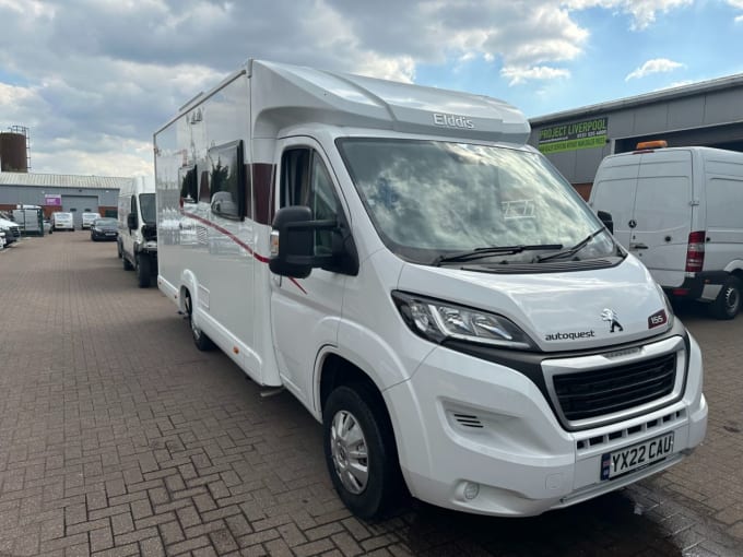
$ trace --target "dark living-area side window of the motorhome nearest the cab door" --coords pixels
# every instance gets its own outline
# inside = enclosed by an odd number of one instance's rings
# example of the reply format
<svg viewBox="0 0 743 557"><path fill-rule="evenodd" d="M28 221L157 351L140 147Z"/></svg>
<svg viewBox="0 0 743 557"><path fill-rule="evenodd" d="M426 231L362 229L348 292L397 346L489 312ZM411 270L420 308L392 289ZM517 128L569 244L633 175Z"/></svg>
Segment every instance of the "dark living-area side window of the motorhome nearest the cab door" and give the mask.
<svg viewBox="0 0 743 557"><path fill-rule="evenodd" d="M209 186L212 213L226 218L245 216L243 141L209 150Z"/></svg>

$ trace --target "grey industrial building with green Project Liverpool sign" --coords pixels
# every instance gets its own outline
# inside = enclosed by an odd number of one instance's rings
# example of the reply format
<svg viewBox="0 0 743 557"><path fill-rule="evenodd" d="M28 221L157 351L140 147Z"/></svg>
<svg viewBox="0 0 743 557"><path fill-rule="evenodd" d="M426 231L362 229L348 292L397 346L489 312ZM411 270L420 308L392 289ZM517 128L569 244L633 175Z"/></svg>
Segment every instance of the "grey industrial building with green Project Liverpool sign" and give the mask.
<svg viewBox="0 0 743 557"><path fill-rule="evenodd" d="M606 155L637 143L743 151L743 74L532 118L529 143L588 199Z"/></svg>

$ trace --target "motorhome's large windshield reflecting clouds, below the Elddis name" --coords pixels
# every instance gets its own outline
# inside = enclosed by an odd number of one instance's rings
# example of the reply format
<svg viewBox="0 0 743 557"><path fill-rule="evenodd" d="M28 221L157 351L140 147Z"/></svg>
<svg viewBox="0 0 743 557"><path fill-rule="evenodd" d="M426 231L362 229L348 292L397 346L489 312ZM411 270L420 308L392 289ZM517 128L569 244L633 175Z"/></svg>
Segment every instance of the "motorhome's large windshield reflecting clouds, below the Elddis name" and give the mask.
<svg viewBox="0 0 743 557"><path fill-rule="evenodd" d="M538 261L535 247L574 257L613 253L609 234L573 187L538 153L391 139L342 139L339 149L382 241L421 263L450 252L497 251L498 261Z"/></svg>

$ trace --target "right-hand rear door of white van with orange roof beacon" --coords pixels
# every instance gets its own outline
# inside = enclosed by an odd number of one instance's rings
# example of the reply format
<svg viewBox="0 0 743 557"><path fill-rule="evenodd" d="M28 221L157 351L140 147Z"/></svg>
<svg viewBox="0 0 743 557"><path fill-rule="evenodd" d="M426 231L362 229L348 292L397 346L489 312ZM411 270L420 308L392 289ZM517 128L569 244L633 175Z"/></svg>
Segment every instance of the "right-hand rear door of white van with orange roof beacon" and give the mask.
<svg viewBox="0 0 743 557"><path fill-rule="evenodd" d="M684 282L686 249L696 208L692 188L692 153L659 150L640 157L635 195L635 227L629 249L665 287Z"/></svg>

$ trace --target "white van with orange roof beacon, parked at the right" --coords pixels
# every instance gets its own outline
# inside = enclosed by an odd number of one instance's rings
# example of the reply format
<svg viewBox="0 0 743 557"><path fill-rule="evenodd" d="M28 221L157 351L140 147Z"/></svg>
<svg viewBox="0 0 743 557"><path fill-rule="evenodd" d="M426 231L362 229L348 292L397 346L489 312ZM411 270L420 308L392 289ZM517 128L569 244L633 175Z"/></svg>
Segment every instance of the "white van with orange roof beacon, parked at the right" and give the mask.
<svg viewBox="0 0 743 557"><path fill-rule="evenodd" d="M743 153L664 144L604 158L589 203L611 214L614 237L670 296L732 319L743 280Z"/></svg>

